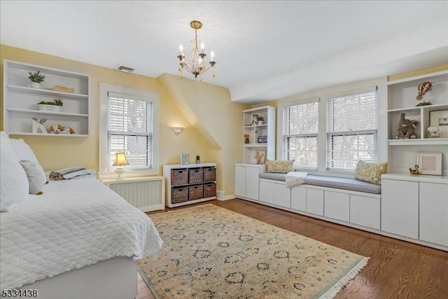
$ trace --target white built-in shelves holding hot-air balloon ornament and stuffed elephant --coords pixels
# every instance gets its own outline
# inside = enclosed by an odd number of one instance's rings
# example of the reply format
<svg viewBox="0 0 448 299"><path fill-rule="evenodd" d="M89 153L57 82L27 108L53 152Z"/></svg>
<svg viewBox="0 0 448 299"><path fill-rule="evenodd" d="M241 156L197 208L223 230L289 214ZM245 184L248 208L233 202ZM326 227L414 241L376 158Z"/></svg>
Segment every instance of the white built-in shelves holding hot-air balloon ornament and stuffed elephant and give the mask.
<svg viewBox="0 0 448 299"><path fill-rule="evenodd" d="M430 105L416 106L417 87L430 81L433 89L424 95L424 101ZM405 118L418 120L415 139L399 139L398 127L401 114ZM439 118L448 113L448 71L402 78L387 83L387 139L389 172L409 173L409 167L416 164L418 152L442 152L444 173L447 172L448 125L440 125ZM440 127L439 138L428 136L428 127Z"/></svg>

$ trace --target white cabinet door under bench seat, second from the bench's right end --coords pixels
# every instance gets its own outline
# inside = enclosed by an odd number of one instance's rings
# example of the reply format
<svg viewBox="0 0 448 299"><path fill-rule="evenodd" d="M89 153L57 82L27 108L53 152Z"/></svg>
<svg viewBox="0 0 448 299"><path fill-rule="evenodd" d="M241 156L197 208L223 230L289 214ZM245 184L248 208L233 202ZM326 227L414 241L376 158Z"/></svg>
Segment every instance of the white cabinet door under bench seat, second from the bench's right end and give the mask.
<svg viewBox="0 0 448 299"><path fill-rule="evenodd" d="M325 191L323 211L325 217L349 222L350 195L347 193Z"/></svg>

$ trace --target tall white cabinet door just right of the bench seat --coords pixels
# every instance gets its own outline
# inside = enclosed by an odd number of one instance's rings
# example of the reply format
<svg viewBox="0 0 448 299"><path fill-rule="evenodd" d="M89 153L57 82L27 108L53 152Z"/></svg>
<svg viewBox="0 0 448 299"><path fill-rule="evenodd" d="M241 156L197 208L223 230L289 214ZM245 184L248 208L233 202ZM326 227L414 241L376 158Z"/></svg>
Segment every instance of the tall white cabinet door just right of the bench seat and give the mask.
<svg viewBox="0 0 448 299"><path fill-rule="evenodd" d="M381 181L381 230L419 239L419 183Z"/></svg>

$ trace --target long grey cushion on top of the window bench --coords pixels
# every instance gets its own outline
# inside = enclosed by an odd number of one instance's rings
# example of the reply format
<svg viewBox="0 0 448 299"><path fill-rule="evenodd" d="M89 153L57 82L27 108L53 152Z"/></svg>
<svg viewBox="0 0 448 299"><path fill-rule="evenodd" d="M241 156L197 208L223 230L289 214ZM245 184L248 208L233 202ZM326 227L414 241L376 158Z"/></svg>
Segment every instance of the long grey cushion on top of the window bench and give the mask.
<svg viewBox="0 0 448 299"><path fill-rule="evenodd" d="M286 174L262 173L260 179L272 179L276 181L285 181ZM323 186L328 188L338 188L353 190L366 193L381 194L381 185L358 181L356 179L338 178L335 176L312 176L305 178L305 184L314 186Z"/></svg>

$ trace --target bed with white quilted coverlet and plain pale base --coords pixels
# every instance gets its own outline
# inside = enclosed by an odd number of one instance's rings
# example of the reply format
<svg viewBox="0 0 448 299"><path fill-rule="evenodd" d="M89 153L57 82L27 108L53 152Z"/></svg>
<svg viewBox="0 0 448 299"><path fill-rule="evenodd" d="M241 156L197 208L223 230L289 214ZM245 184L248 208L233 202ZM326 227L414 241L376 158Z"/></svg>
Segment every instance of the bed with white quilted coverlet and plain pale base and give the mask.
<svg viewBox="0 0 448 299"><path fill-rule="evenodd" d="M151 219L97 179L50 181L0 213L0 296L35 289L38 298L132 299L137 260L161 246Z"/></svg>

